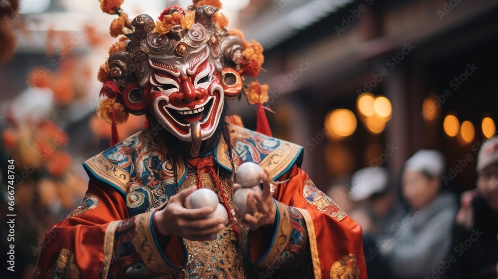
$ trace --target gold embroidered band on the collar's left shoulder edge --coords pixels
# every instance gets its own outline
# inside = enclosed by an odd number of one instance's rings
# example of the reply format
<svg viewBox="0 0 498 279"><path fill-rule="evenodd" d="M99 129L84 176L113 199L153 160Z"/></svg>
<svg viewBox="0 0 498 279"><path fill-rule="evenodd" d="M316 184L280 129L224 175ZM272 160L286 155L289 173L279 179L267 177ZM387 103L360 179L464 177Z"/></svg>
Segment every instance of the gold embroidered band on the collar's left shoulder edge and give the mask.
<svg viewBox="0 0 498 279"><path fill-rule="evenodd" d="M102 179L112 182L125 193L127 192L126 185L129 181L129 174L124 169L111 163L104 155L98 154L86 160L85 163Z"/></svg>

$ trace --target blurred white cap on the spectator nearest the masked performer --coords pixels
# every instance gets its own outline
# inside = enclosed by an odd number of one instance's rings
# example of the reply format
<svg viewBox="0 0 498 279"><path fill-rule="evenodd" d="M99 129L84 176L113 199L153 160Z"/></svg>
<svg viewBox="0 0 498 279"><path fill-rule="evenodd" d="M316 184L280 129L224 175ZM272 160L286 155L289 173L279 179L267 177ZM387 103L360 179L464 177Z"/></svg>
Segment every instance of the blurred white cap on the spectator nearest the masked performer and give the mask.
<svg viewBox="0 0 498 279"><path fill-rule="evenodd" d="M389 176L381 166L371 166L357 170L351 179L350 199L360 201L380 193L387 188Z"/></svg>

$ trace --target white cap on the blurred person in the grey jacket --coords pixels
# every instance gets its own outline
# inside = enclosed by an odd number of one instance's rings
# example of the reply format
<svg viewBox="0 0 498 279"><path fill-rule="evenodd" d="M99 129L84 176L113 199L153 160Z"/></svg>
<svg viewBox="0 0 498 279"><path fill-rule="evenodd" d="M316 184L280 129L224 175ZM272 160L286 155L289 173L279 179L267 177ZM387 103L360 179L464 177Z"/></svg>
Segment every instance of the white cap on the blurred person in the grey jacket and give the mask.
<svg viewBox="0 0 498 279"><path fill-rule="evenodd" d="M405 162L405 170L425 171L434 176L443 174L445 167L444 156L434 149L420 149Z"/></svg>

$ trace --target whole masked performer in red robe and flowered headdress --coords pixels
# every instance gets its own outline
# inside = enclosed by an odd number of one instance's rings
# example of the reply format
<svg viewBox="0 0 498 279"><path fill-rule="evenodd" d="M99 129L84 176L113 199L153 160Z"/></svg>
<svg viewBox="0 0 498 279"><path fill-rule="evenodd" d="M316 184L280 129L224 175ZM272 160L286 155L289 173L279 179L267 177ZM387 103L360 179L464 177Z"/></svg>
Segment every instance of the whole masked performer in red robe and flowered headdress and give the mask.
<svg viewBox="0 0 498 279"><path fill-rule="evenodd" d="M33 277L367 278L361 227L300 168L303 148L227 124L225 99L245 91L258 103L257 130L269 134L264 86L243 85L259 72L261 46L225 28L219 1L167 8L156 23L128 19L119 1L101 4L119 14L111 33L126 36L99 73L98 114L112 124L113 144L128 113L145 114L148 128L84 163L84 200L48 232ZM264 170L262 191L236 218L244 162ZM196 188L218 195L228 222L212 208L184 207Z"/></svg>

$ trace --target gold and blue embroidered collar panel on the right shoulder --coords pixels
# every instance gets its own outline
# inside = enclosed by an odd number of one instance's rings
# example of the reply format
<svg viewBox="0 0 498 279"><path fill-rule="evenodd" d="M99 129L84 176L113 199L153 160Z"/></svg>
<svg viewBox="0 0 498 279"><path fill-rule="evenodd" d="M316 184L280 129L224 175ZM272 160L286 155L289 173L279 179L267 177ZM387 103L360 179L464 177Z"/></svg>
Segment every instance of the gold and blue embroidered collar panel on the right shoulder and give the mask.
<svg viewBox="0 0 498 279"><path fill-rule="evenodd" d="M250 156L259 166L265 168L271 177L281 174L301 152L302 147L281 139L269 138L238 126L231 129L231 144L234 152L234 164L239 167ZM280 143L279 145L277 143ZM278 145L278 146L277 146ZM246 148L247 147L247 148ZM246 154L249 150L250 154ZM266 155L261 159L262 155ZM244 158L243 158L244 157ZM228 154L228 145L221 140L216 148L216 160L228 169L232 169Z"/></svg>

